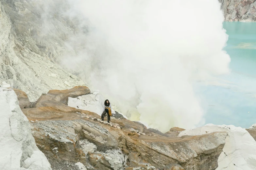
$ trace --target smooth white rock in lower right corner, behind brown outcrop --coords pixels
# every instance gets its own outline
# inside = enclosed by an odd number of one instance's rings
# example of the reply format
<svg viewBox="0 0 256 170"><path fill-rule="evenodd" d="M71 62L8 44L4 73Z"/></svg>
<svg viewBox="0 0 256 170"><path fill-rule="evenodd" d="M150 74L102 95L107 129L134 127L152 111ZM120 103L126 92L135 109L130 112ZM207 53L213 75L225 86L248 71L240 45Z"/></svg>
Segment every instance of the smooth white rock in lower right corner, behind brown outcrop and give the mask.
<svg viewBox="0 0 256 170"><path fill-rule="evenodd" d="M241 127L206 124L203 127L182 131L179 136L203 135L213 132L228 132L216 170L255 170L256 141L247 130Z"/></svg>

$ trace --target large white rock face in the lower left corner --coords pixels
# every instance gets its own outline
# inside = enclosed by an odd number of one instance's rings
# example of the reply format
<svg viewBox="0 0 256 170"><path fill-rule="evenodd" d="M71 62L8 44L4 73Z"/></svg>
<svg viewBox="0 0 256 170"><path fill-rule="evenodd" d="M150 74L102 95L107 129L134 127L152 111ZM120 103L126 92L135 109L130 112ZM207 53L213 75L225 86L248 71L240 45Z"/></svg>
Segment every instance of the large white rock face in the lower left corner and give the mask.
<svg viewBox="0 0 256 170"><path fill-rule="evenodd" d="M37 148L30 124L13 90L0 88L0 167L3 170L51 170Z"/></svg>

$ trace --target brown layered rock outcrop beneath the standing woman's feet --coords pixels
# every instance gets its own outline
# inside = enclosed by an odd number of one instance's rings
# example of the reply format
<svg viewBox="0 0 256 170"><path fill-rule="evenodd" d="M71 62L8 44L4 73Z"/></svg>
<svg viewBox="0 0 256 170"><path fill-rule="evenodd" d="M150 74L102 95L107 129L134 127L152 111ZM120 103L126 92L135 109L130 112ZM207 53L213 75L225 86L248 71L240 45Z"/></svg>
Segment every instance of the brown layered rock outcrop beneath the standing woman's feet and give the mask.
<svg viewBox="0 0 256 170"><path fill-rule="evenodd" d="M45 94L34 108L22 109L31 120L37 146L53 168L65 167L63 162L75 168L78 161L87 169L99 170L170 167L209 170L218 166L226 132L170 137L127 119L111 117L108 123L96 113L65 105L69 94L85 95L85 88L54 91L54 97ZM137 157L132 157L132 153Z"/></svg>

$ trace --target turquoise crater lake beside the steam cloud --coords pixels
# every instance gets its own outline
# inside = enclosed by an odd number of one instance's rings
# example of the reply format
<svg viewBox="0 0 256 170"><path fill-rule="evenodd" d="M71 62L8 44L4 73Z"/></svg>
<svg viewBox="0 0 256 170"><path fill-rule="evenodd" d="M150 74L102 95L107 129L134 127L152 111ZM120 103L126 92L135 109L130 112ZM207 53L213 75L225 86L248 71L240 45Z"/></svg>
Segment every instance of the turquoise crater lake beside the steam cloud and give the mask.
<svg viewBox="0 0 256 170"><path fill-rule="evenodd" d="M223 22L229 40L229 75L221 86L200 86L205 123L249 128L256 123L256 22ZM207 103L207 104L206 104Z"/></svg>

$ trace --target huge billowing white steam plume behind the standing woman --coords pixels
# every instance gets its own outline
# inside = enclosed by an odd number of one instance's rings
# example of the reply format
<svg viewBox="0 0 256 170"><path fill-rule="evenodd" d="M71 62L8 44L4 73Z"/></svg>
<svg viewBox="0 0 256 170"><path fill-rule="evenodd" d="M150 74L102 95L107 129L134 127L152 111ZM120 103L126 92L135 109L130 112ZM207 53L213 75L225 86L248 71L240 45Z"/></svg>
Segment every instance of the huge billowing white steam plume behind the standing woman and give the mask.
<svg viewBox="0 0 256 170"><path fill-rule="evenodd" d="M132 120L162 132L203 123L194 83L229 72L218 0L72 3L90 29L85 49L66 66L86 67L90 84L123 104Z"/></svg>

